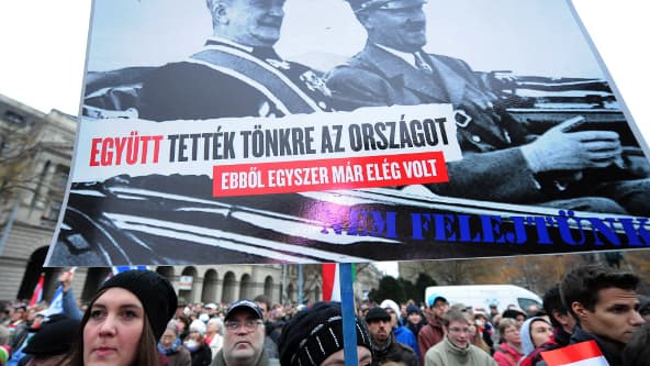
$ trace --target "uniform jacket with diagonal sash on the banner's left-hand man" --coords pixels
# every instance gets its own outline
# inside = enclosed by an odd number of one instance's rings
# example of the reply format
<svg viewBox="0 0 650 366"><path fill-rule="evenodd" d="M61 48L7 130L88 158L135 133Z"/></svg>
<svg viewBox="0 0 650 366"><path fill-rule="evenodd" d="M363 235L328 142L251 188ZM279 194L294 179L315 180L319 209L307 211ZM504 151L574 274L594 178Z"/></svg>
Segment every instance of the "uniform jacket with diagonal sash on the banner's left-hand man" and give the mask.
<svg viewBox="0 0 650 366"><path fill-rule="evenodd" d="M180 63L147 75L138 117L154 121L228 117L282 117L330 110L324 81L272 48L211 38Z"/></svg>

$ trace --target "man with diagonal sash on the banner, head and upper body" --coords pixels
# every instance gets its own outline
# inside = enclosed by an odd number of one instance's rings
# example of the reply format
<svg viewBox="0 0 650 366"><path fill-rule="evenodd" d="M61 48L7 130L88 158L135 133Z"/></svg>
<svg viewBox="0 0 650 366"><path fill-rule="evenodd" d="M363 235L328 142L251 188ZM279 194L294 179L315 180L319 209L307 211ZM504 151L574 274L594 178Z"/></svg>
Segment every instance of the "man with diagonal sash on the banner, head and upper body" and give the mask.
<svg viewBox="0 0 650 366"><path fill-rule="evenodd" d="M329 110L320 76L273 49L284 0L206 0L206 4L213 36L189 59L165 65L145 78L139 118L282 117Z"/></svg>

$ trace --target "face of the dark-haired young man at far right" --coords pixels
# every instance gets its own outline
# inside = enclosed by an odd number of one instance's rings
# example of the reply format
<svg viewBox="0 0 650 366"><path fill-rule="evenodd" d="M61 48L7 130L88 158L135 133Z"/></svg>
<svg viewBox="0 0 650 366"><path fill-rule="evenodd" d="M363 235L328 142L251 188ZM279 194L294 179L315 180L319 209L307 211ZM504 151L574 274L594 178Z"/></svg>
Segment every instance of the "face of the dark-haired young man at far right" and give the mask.
<svg viewBox="0 0 650 366"><path fill-rule="evenodd" d="M637 326L645 322L638 312L637 292L610 287L598 290L597 299L593 311L574 302L573 310L580 318L582 329L613 341L627 343Z"/></svg>

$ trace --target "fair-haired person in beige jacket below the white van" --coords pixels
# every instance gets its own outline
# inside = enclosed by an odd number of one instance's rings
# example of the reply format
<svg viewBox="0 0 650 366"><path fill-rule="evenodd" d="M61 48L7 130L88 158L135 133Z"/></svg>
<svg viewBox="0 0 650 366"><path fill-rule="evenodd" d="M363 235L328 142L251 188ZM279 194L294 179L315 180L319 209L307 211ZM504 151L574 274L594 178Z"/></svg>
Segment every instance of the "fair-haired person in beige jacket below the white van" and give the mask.
<svg viewBox="0 0 650 366"><path fill-rule="evenodd" d="M442 321L445 337L427 351L425 366L496 366L489 353L471 344L471 324L463 312L451 309Z"/></svg>

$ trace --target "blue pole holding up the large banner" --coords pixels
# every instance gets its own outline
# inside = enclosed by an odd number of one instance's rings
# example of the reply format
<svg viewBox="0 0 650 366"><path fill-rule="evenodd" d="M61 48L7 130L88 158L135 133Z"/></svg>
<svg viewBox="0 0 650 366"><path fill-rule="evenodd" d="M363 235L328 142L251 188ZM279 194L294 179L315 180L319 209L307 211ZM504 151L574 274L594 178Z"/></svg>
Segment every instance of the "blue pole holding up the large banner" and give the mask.
<svg viewBox="0 0 650 366"><path fill-rule="evenodd" d="M340 263L338 264L338 269L345 364L358 365L357 331L355 329L355 291L352 288L352 265L350 263Z"/></svg>

